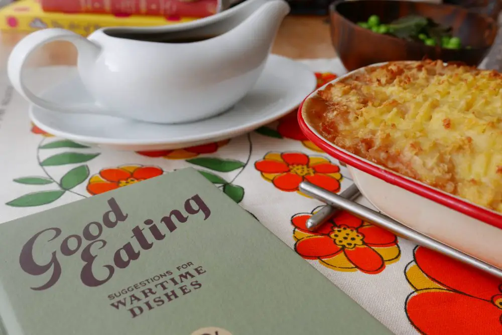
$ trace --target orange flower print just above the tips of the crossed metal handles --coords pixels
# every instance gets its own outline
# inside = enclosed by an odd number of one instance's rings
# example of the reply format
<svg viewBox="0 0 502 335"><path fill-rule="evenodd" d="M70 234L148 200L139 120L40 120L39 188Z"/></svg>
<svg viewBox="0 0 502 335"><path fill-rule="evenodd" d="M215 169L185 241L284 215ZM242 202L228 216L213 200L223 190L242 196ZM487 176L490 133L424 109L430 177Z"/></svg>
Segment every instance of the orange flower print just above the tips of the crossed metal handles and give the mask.
<svg viewBox="0 0 502 335"><path fill-rule="evenodd" d="M340 190L340 168L324 157L302 152L269 152L255 163L255 168L281 191L298 191L304 180L330 192Z"/></svg>

